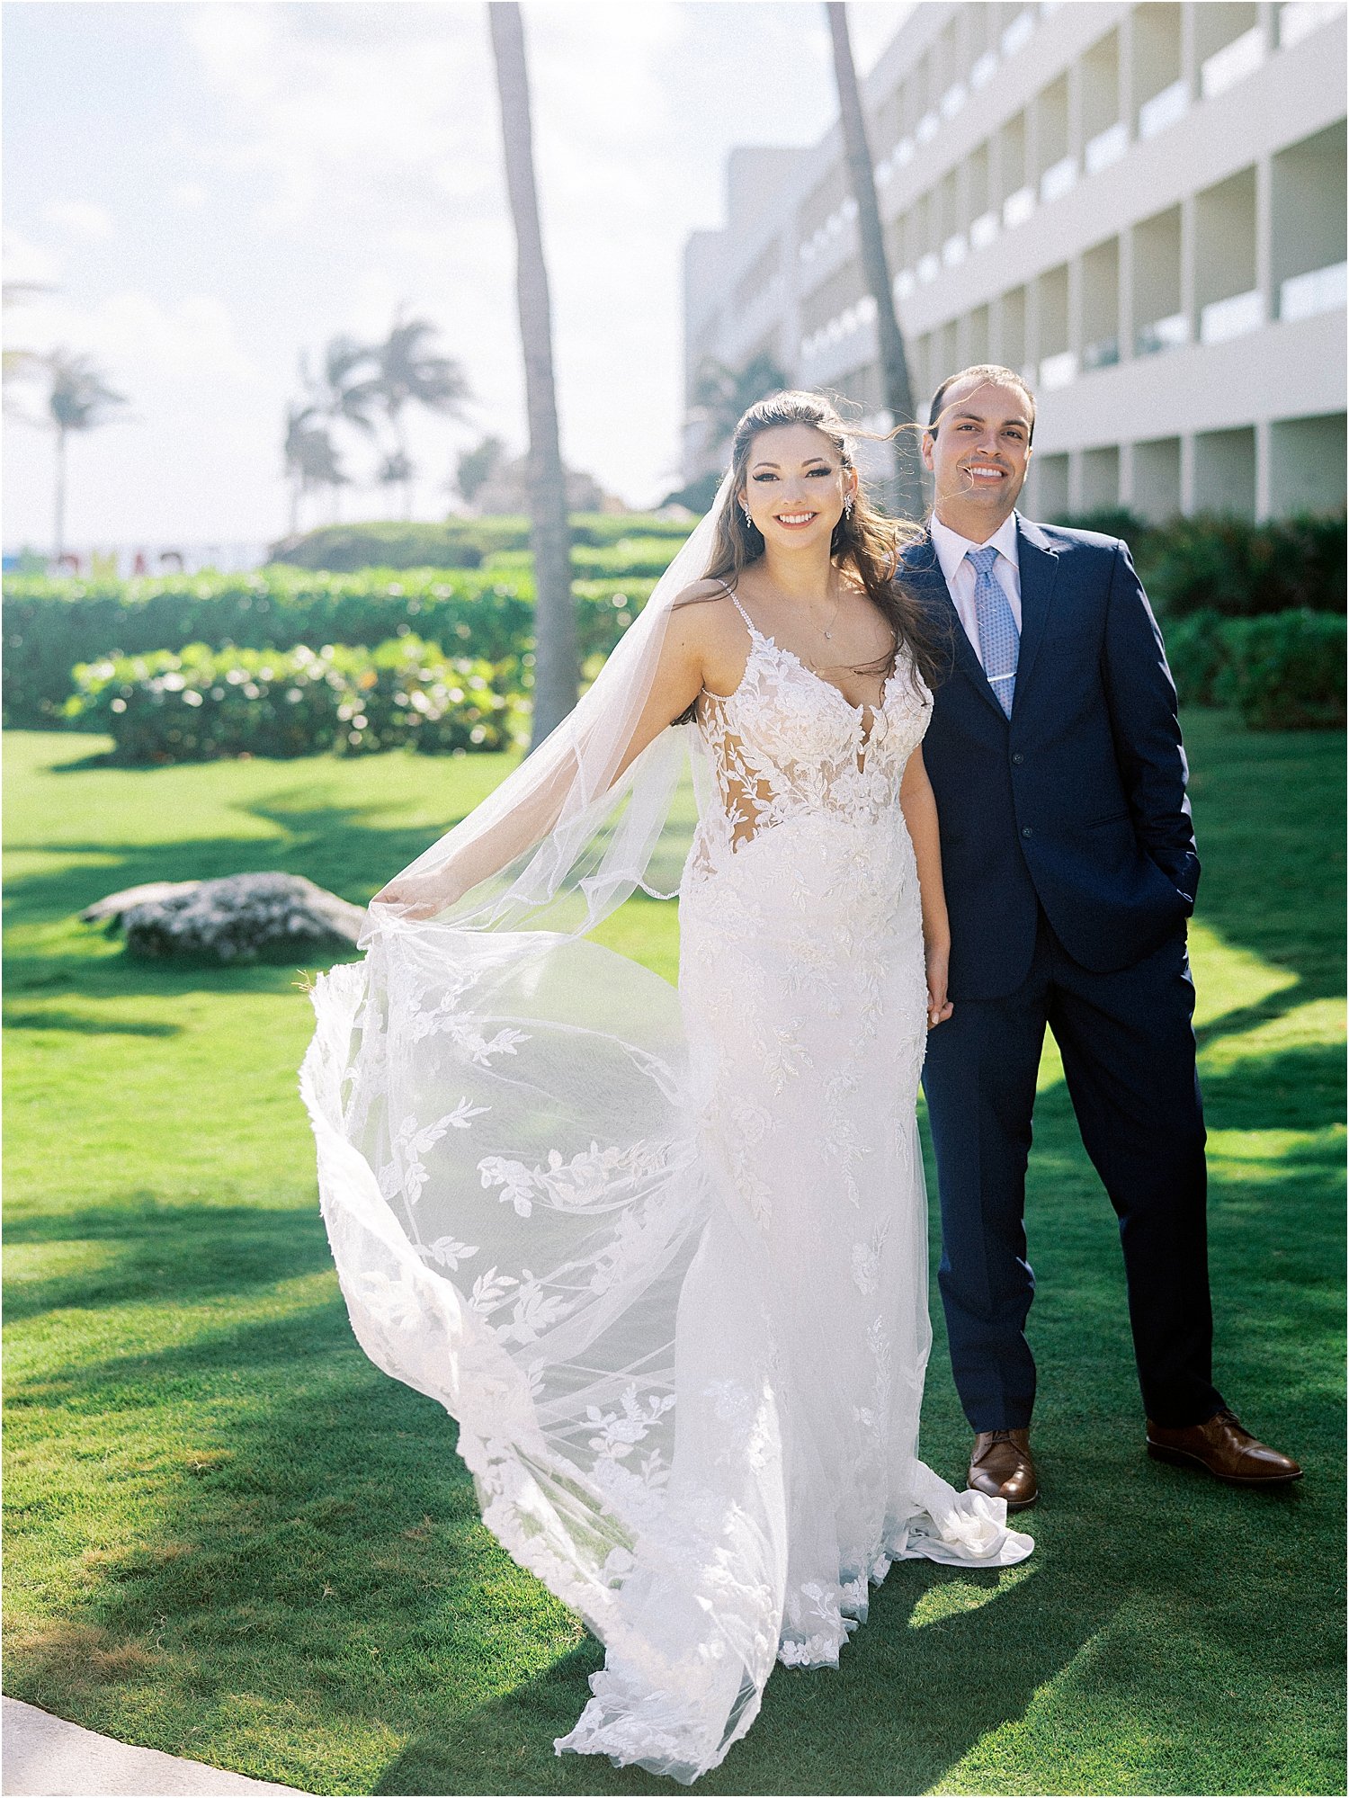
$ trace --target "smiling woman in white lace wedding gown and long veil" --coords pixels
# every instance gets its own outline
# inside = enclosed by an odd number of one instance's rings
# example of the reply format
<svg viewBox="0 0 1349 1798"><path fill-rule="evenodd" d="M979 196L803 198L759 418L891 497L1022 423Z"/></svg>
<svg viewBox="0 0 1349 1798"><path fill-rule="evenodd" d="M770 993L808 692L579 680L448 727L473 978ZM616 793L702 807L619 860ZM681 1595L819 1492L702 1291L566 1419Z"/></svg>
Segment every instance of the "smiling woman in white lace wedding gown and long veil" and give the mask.
<svg viewBox="0 0 1349 1798"><path fill-rule="evenodd" d="M1005 1566L917 1460L916 1095L946 1001L898 530L813 394L752 406L712 512L586 698L371 906L302 1090L367 1354L459 1420L484 1521L606 1649L558 1751L691 1782L869 1582ZM588 940L667 861L680 987Z"/></svg>

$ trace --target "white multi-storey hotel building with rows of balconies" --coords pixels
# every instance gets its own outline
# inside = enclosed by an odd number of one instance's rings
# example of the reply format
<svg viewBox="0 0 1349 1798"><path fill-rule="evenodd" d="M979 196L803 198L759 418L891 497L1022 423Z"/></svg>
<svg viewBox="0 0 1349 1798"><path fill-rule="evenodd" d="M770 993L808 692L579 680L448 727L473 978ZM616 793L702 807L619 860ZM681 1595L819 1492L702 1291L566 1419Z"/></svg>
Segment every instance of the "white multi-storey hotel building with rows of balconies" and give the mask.
<svg viewBox="0 0 1349 1798"><path fill-rule="evenodd" d="M1027 511L1344 505L1342 4L928 0L863 104L916 403L1022 369ZM732 153L727 227L685 248L685 478L707 356L880 412L854 214L838 126Z"/></svg>

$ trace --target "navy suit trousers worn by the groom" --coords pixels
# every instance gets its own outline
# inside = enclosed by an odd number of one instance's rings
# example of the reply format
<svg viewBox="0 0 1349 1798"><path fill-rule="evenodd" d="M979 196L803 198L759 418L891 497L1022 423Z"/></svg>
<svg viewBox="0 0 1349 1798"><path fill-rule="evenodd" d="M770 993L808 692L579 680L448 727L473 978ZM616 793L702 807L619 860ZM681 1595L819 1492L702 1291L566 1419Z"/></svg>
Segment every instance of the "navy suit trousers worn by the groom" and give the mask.
<svg viewBox="0 0 1349 1798"><path fill-rule="evenodd" d="M1047 1025L1119 1217L1146 1413L1184 1428L1221 1410L1193 1014L1184 928L1131 967L1092 973L1041 912L1025 982L1007 998L957 1001L930 1032L923 1090L941 1187L939 1282L975 1429L1025 1428L1034 1404L1025 1167Z"/></svg>

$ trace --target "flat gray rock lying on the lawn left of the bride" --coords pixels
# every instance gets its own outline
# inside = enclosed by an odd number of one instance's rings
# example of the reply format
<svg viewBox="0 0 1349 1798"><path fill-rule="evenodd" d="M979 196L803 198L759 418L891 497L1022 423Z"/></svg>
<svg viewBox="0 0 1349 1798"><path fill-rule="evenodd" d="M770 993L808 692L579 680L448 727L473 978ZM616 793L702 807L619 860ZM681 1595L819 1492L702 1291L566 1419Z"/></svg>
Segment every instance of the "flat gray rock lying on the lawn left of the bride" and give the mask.
<svg viewBox="0 0 1349 1798"><path fill-rule="evenodd" d="M349 953L365 913L299 874L230 874L110 894L81 913L110 921L146 960L291 962Z"/></svg>

